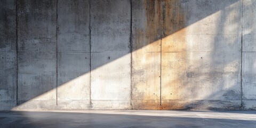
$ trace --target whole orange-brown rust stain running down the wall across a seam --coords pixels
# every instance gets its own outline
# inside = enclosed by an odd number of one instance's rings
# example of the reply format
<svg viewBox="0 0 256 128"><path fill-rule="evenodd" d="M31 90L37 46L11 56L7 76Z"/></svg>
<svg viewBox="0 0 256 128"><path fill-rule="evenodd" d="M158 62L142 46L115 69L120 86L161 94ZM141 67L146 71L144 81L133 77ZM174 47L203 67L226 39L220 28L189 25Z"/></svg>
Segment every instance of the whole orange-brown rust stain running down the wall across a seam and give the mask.
<svg viewBox="0 0 256 128"><path fill-rule="evenodd" d="M187 67L186 15L182 10L180 1L145 0L143 3L146 12L145 17L147 18L145 31L137 29L136 34L146 36L134 35L134 45L137 51L133 52L133 57L145 59L147 63L133 62L137 65L143 65L140 69L143 70L143 73L150 73L151 70L154 70L155 74L146 74L143 82L133 82L136 84L133 84L132 107L133 109L184 109L185 104L180 103L179 99L182 97L184 86L182 79L186 74ZM145 55L149 54L147 52L153 52L154 54ZM157 60L161 60L161 54L162 61L158 63ZM152 65L158 68L152 68ZM145 74L143 75L134 76L145 77ZM162 76L161 79L159 79L159 75ZM134 78L133 81L138 81L138 79L140 78ZM162 86L162 89L160 86ZM150 87L159 90L152 91ZM155 93L160 92L160 89L162 91L162 106L160 106L160 95L157 95L159 99L156 99L156 94L159 93Z"/></svg>

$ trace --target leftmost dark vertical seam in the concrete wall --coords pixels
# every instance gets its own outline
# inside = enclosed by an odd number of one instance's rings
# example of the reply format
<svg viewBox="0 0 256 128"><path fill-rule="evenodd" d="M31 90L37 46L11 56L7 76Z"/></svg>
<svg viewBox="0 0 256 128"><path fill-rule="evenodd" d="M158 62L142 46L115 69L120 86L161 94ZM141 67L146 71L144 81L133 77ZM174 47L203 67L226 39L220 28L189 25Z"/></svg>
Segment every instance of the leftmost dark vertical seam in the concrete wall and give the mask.
<svg viewBox="0 0 256 128"><path fill-rule="evenodd" d="M18 106L18 0L16 0L16 105Z"/></svg>

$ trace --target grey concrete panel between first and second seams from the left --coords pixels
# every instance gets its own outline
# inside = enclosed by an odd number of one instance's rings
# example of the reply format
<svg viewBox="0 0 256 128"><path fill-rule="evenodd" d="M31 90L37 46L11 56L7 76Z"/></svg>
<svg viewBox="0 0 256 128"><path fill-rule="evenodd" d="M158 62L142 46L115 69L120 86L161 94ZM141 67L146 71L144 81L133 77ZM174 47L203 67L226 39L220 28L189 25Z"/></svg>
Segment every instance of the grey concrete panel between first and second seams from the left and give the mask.
<svg viewBox="0 0 256 128"><path fill-rule="evenodd" d="M18 1L20 109L54 109L56 105L56 4Z"/></svg>

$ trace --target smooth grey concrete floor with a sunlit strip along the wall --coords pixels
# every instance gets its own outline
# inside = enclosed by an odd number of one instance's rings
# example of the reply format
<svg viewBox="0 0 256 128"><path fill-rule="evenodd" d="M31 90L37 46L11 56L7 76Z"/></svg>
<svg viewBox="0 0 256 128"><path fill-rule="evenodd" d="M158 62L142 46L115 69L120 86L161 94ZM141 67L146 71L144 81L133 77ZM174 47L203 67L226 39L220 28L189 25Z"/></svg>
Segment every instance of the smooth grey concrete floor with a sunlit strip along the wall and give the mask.
<svg viewBox="0 0 256 128"><path fill-rule="evenodd" d="M0 111L0 127L256 127L256 111Z"/></svg>

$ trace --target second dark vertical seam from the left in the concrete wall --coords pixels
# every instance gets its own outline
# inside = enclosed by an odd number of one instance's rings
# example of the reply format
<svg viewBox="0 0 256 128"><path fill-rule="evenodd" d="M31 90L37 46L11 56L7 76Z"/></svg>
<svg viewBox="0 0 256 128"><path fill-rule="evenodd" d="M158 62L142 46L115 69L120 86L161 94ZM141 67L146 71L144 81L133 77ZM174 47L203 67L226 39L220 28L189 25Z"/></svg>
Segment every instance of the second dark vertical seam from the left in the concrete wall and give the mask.
<svg viewBox="0 0 256 128"><path fill-rule="evenodd" d="M58 0L56 3L56 105L58 106Z"/></svg>

